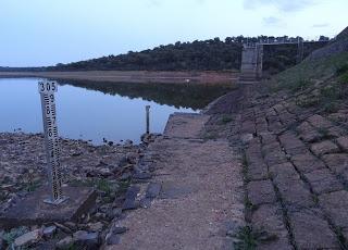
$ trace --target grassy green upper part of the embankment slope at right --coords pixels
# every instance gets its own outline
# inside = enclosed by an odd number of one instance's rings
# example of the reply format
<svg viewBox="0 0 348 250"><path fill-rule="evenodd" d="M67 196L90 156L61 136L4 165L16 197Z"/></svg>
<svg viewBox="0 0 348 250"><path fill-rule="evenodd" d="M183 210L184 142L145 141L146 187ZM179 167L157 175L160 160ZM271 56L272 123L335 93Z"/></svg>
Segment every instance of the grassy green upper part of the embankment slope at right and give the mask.
<svg viewBox="0 0 348 250"><path fill-rule="evenodd" d="M273 91L290 91L300 107L335 112L348 98L348 28L335 41L314 51L302 63L278 74Z"/></svg>

